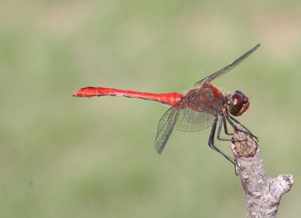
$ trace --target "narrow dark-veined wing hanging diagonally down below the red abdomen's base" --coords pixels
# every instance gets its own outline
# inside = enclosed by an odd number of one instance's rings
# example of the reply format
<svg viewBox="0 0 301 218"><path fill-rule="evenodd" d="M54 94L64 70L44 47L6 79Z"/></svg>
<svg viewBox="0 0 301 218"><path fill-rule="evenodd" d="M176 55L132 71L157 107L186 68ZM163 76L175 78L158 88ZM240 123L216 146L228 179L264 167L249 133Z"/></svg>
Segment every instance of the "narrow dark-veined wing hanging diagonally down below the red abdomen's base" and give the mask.
<svg viewBox="0 0 301 218"><path fill-rule="evenodd" d="M180 113L180 105L181 103L177 103L163 115L158 123L158 131L157 136L154 142L155 148L157 152L160 154L172 132L172 129L177 122L179 113Z"/></svg>

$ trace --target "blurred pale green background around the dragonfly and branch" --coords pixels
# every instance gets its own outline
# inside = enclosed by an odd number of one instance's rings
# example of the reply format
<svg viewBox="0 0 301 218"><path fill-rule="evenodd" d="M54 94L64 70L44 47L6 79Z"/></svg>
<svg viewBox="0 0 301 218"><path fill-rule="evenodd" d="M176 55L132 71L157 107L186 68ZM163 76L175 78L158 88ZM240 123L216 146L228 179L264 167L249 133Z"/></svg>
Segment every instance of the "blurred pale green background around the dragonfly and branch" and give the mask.
<svg viewBox="0 0 301 218"><path fill-rule="evenodd" d="M245 217L210 129L174 130L158 155L166 106L70 94L185 93L257 43L213 84L252 97L239 120L259 137L267 176L294 176L278 216L299 216L300 11L299 1L2 1L0 216Z"/></svg>

